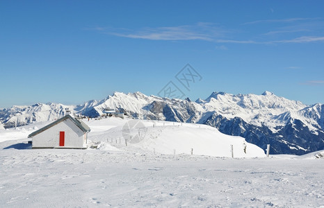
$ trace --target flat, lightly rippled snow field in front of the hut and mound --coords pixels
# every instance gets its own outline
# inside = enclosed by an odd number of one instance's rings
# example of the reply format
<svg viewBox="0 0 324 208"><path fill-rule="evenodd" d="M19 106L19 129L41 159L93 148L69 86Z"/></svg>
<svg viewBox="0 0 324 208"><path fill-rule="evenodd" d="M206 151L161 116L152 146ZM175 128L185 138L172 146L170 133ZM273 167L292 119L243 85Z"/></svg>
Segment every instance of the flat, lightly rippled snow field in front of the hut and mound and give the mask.
<svg viewBox="0 0 324 208"><path fill-rule="evenodd" d="M323 159L0 152L1 207L321 207Z"/></svg>

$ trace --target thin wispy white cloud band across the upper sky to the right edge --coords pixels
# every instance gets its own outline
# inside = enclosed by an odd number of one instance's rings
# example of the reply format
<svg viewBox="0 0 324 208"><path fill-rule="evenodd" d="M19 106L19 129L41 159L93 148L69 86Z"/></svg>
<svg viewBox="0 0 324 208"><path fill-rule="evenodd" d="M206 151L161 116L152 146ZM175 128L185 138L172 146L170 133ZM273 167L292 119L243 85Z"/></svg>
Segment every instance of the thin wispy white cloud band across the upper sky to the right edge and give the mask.
<svg viewBox="0 0 324 208"><path fill-rule="evenodd" d="M285 19L285 21L298 21L298 19L307 18L293 18ZM268 20L274 21L274 20ZM211 23L198 23L195 25L184 26L170 26L170 27L157 27L157 28L141 28L138 30L131 30L128 28L111 28L111 27L95 27L92 30L99 31L99 33L105 33L108 35L114 35L118 37L127 37L133 39L143 40L202 40L207 42L214 42L218 44L288 44L288 43L309 43L309 42L323 42L324 36L302 36L294 39L287 40L265 40L255 41L250 40L236 40L235 38L226 39L235 35L234 31L224 29L216 24ZM296 32L296 31L285 31ZM270 32L271 33L271 32ZM273 32L275 33L275 32ZM284 33L283 31L277 33Z"/></svg>

